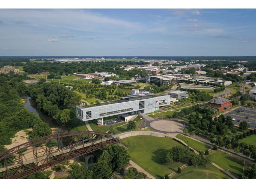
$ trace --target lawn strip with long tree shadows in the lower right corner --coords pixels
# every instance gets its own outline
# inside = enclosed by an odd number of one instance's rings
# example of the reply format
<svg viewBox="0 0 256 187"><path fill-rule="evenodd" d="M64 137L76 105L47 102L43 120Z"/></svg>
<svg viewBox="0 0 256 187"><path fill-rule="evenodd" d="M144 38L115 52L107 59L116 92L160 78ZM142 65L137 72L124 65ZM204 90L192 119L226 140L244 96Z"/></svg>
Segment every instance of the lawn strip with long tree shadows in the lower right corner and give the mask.
<svg viewBox="0 0 256 187"><path fill-rule="evenodd" d="M220 150L210 152L209 158L212 162L219 165L223 169L228 170L239 177L242 176L244 160ZM244 169L246 170L250 165L251 163L245 161Z"/></svg>

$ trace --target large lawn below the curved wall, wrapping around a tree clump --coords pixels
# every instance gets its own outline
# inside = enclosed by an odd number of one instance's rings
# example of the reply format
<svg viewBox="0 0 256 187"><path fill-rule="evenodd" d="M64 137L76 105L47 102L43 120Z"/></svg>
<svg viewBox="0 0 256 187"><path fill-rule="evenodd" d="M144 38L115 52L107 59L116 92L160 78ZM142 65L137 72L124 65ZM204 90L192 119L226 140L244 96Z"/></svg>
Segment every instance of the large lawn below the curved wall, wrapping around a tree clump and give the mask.
<svg viewBox="0 0 256 187"><path fill-rule="evenodd" d="M159 179L163 179L165 174L170 174L187 163L188 159L195 154L190 152L181 162L173 162L167 166L163 163L166 152L174 146L182 146L181 143L171 138L154 136L133 136L121 141L128 147L131 160Z"/></svg>

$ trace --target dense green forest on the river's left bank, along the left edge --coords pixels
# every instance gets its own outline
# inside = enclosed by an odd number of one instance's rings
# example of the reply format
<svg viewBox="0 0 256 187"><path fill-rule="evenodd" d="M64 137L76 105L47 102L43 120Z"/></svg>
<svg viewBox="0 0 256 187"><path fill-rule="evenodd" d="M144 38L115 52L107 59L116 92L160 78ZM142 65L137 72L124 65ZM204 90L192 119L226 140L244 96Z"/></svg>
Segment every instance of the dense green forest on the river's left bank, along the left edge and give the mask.
<svg viewBox="0 0 256 187"><path fill-rule="evenodd" d="M48 124L20 102L18 92L25 92L27 87L22 80L29 79L26 74L0 75L0 142L10 144L16 132L33 128L30 139L47 136L52 133ZM35 129L34 129L35 128Z"/></svg>

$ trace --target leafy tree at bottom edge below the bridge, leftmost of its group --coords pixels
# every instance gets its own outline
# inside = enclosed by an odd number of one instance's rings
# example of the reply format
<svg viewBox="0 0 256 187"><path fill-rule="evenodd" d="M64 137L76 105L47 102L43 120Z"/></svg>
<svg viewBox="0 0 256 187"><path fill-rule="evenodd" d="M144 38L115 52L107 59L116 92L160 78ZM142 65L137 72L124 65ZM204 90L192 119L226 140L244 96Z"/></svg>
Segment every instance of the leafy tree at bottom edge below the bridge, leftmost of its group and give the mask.
<svg viewBox="0 0 256 187"><path fill-rule="evenodd" d="M71 179L91 179L92 172L88 169L87 165L84 162L74 162L70 165L68 170L69 177Z"/></svg>

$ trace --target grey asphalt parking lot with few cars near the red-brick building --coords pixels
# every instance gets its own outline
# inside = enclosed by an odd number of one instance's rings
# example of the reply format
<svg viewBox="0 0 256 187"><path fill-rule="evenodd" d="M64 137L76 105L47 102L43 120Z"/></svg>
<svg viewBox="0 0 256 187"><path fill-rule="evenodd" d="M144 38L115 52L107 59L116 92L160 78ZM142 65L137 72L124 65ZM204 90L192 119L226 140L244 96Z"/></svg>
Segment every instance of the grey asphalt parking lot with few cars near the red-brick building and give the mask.
<svg viewBox="0 0 256 187"><path fill-rule="evenodd" d="M244 112L238 112L239 110L244 110ZM240 106L233 111L224 114L224 116L236 118L236 120L233 121L235 125L239 125L241 121L247 121L251 128L256 128L256 108L252 110L251 107ZM248 117L248 119L246 119L246 117ZM240 120L240 122L237 120Z"/></svg>

